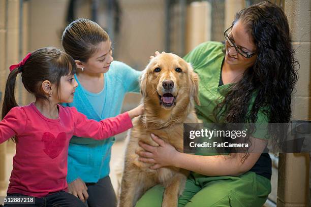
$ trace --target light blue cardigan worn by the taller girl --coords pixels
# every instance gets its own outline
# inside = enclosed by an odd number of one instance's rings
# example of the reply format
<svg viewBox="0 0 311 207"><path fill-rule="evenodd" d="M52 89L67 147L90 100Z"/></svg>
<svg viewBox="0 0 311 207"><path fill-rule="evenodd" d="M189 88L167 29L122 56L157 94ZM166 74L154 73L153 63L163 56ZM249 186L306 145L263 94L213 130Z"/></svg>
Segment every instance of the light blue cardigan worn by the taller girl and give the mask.
<svg viewBox="0 0 311 207"><path fill-rule="evenodd" d="M98 114L88 101L82 86L75 76L79 86L76 89L72 103L64 106L76 107L89 119L100 121L114 117L121 111L123 98L127 92L139 92L139 76L141 72L134 70L125 63L113 61L109 71L104 75L105 85L103 99L103 113ZM86 183L96 183L99 179L109 175L111 146L114 137L96 141L89 138L73 136L68 151L67 182L71 183L81 178Z"/></svg>

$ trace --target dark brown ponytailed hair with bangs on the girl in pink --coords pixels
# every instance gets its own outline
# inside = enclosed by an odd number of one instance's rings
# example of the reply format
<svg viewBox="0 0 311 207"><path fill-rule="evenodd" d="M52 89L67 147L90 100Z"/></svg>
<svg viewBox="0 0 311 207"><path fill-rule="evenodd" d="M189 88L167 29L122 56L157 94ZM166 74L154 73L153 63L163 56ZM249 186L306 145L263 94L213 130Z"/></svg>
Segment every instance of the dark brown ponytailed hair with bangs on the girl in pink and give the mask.
<svg viewBox="0 0 311 207"><path fill-rule="evenodd" d="M76 63L72 57L65 52L53 48L45 47L38 49L26 60L21 66L21 78L25 89L32 93L37 99L48 101L44 94L41 84L48 80L52 84L56 84L57 90L60 86L60 78L69 74L76 73ZM15 100L15 82L18 68L15 68L7 79L5 96L2 106L2 118L14 107L17 107Z"/></svg>

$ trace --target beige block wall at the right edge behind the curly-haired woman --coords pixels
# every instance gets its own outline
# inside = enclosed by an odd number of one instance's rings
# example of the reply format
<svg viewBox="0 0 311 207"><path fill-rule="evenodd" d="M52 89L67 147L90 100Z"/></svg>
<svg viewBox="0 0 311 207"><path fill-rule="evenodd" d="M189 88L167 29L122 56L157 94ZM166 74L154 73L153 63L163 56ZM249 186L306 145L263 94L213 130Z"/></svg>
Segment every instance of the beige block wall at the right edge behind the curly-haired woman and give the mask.
<svg viewBox="0 0 311 207"><path fill-rule="evenodd" d="M293 120L311 120L310 59L311 3L285 1L295 57L300 63L297 92L293 94ZM309 154L281 154L279 159L278 206L307 206L309 201Z"/></svg>

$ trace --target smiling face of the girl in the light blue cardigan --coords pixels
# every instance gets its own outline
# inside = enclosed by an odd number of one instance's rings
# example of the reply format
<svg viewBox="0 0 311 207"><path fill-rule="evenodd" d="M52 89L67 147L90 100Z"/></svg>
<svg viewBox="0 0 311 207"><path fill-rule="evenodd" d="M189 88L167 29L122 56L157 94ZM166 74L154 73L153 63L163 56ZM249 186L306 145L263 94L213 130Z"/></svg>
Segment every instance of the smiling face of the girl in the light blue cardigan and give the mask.
<svg viewBox="0 0 311 207"><path fill-rule="evenodd" d="M107 73L112 61L111 42L101 42L97 46L96 52L85 63L84 70L87 73Z"/></svg>

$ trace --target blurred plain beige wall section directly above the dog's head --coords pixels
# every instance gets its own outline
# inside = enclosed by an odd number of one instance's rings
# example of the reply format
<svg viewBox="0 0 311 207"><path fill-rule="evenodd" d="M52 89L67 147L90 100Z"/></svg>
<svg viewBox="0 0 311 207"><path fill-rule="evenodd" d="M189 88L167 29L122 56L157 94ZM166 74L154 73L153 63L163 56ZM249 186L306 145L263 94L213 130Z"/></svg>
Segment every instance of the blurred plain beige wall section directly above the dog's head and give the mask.
<svg viewBox="0 0 311 207"><path fill-rule="evenodd" d="M163 51L165 43L164 0L121 0L121 30L115 42L117 59L142 70L149 56Z"/></svg>

